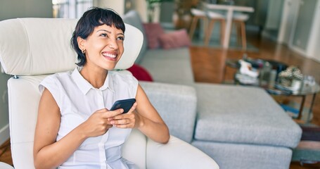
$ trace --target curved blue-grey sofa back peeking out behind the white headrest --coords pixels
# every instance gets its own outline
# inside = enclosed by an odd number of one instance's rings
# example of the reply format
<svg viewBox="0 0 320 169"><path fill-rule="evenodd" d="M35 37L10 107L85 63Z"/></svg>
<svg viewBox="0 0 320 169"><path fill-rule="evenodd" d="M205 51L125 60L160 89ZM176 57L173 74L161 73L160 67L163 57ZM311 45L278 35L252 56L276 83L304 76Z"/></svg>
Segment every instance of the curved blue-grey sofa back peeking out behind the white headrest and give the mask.
<svg viewBox="0 0 320 169"><path fill-rule="evenodd" d="M146 32L143 29L140 15L136 11L129 11L122 17L122 20L124 21L124 23L128 23L129 25L132 25L132 26L138 28L143 34L143 44L141 47L141 51L140 51L138 58L136 58L136 61L135 61L135 63L140 63L144 54L146 53L147 48L148 48L148 41L146 38Z"/></svg>

